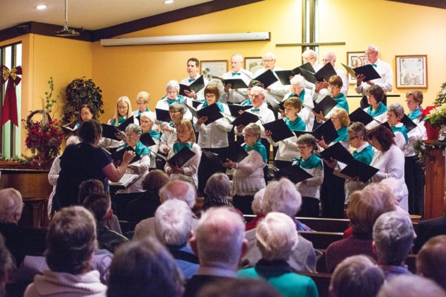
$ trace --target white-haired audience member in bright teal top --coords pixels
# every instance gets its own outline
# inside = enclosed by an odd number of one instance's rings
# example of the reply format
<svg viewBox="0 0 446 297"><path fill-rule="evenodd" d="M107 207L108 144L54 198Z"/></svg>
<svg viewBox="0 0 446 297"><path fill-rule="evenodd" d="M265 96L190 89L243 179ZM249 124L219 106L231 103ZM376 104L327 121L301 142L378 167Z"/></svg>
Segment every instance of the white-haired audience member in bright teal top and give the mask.
<svg viewBox="0 0 446 297"><path fill-rule="evenodd" d="M282 296L318 296L314 281L309 276L296 274L287 263L299 241L290 216L270 212L258 223L256 238L262 259L255 267L239 270L239 278L267 279Z"/></svg>

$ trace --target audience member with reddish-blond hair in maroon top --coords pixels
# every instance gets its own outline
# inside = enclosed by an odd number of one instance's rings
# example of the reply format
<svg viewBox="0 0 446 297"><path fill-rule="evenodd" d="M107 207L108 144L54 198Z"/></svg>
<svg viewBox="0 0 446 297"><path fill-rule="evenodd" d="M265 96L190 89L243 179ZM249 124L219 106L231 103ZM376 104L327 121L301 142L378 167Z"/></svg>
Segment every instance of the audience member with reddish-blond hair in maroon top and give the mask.
<svg viewBox="0 0 446 297"><path fill-rule="evenodd" d="M326 250L327 272L332 273L336 266L346 257L353 255L369 255L377 260L372 250L372 231L374 222L381 214L396 209L395 198L391 192L382 195L380 184L367 185L362 191L350 195L347 215L353 235L335 241Z"/></svg>

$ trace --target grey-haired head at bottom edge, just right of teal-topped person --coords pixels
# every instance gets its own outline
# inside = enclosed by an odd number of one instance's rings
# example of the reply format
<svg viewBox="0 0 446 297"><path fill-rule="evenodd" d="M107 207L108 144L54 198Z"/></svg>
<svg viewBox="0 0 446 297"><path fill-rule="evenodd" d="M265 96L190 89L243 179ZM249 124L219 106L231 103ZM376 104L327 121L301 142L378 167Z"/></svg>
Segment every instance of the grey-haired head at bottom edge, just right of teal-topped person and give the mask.
<svg viewBox="0 0 446 297"><path fill-rule="evenodd" d="M384 272L365 255L345 258L330 281L331 297L374 297L384 284Z"/></svg>

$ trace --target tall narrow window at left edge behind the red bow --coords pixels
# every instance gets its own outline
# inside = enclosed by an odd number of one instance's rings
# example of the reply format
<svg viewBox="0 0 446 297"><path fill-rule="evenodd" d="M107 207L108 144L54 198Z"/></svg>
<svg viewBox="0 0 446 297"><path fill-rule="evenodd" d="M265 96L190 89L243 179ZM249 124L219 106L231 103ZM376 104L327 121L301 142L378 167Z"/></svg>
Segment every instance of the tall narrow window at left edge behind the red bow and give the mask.
<svg viewBox="0 0 446 297"><path fill-rule="evenodd" d="M15 43L13 45L5 45L0 47L0 64L11 69L13 66L21 66L22 64L22 44ZM0 127L0 153L5 155L6 158L13 156L21 156L21 98L22 98L22 83L16 86L17 95L17 112L18 112L18 127L11 124L8 121L2 127ZM1 86L0 92L0 112L1 107L4 104L4 97L6 92L6 84Z"/></svg>

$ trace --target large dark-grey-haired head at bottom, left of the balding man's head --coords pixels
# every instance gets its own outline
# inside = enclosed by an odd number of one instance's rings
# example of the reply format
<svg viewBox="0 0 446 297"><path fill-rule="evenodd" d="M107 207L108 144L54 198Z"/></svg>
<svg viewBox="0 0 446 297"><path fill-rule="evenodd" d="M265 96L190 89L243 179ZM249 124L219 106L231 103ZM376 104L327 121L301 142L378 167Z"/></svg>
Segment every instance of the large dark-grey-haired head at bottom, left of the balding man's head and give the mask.
<svg viewBox="0 0 446 297"><path fill-rule="evenodd" d="M115 253L108 297L179 297L182 293L183 275L156 238L132 240Z"/></svg>

